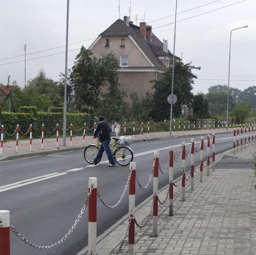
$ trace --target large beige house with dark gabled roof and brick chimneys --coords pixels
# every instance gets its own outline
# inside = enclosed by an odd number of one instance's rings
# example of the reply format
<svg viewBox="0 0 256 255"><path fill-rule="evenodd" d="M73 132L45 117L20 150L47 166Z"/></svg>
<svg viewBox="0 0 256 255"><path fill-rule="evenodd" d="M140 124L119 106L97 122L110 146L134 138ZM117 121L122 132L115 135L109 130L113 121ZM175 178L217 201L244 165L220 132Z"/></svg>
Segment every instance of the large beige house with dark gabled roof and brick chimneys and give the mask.
<svg viewBox="0 0 256 255"><path fill-rule="evenodd" d="M119 83L121 90L145 96L153 92L150 80L160 79L173 63L173 54L168 50L168 42L159 40L152 33L152 26L140 22L140 26L117 19L89 48L96 58L114 53L119 60ZM180 61L178 57L175 60Z"/></svg>

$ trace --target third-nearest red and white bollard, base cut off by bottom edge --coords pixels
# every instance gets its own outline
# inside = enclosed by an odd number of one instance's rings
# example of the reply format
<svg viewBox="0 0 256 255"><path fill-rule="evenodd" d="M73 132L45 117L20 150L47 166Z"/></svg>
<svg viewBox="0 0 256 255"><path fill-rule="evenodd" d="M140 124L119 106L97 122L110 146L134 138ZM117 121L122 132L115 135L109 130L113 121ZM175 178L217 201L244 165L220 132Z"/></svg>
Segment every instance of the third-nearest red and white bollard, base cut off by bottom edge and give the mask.
<svg viewBox="0 0 256 255"><path fill-rule="evenodd" d="M129 226L128 254L135 253L135 184L136 184L136 163L130 163L131 178L129 182L129 215L131 222Z"/></svg>

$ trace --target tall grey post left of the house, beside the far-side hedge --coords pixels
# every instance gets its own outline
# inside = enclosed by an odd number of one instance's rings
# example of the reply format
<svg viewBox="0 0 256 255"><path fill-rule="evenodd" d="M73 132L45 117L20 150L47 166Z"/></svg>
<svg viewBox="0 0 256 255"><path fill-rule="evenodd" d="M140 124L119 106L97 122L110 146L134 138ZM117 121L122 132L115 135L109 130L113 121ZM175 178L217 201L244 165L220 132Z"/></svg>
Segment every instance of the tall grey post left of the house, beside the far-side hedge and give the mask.
<svg viewBox="0 0 256 255"><path fill-rule="evenodd" d="M63 105L63 146L66 146L66 80L68 76L68 42L69 42L69 0L66 5L66 57L65 57L65 82Z"/></svg>

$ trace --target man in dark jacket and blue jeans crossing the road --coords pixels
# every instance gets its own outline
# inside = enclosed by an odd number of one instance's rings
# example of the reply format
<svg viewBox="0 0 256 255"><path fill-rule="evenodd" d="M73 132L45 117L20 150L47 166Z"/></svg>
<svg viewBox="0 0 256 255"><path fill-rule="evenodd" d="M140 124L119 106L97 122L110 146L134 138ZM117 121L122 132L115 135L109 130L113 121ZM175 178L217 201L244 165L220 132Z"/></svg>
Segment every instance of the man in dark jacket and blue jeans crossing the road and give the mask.
<svg viewBox="0 0 256 255"><path fill-rule="evenodd" d="M96 158L93 160L93 163L96 165L99 160L102 158L102 154L105 151L106 155L108 157L108 161L110 164L108 164L108 167L115 167L115 159L112 155L112 152L110 150L110 127L108 126L107 122L104 120L104 116L99 117L99 124L94 132L94 138L99 138L99 141L102 143L99 147L98 154L96 155Z"/></svg>

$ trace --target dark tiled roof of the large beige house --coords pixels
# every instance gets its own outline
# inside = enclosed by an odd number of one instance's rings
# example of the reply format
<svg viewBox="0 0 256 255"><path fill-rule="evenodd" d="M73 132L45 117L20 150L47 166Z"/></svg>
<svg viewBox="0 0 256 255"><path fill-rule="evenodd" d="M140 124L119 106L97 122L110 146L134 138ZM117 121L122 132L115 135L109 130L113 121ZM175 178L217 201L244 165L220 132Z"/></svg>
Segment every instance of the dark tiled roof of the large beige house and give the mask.
<svg viewBox="0 0 256 255"><path fill-rule="evenodd" d="M129 24L127 25L124 20L117 19L110 27L108 27L104 32L100 33L100 36L120 36L125 37L131 35L136 41L139 47L143 50L146 56L150 59L155 67L160 70L166 70L166 67L158 59L158 56L169 56L172 57L173 54L163 52L163 43L152 33L152 41L140 33L140 28L137 25Z"/></svg>

